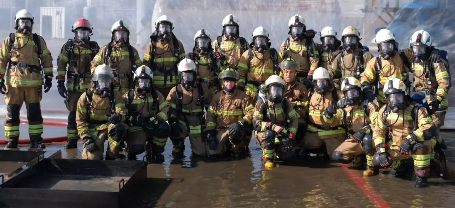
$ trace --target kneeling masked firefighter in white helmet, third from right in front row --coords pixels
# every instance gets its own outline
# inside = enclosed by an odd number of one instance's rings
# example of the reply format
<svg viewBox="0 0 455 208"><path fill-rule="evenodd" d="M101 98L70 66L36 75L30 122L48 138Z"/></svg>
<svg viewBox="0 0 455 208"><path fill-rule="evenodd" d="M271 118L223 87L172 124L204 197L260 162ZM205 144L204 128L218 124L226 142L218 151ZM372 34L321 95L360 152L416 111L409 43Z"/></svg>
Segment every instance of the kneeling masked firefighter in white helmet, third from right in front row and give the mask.
<svg viewBox="0 0 455 208"><path fill-rule="evenodd" d="M314 70L314 87L308 96L308 130L303 137L304 148L309 152L325 144L326 153L333 158L334 150L346 139L346 131L340 126L342 110L336 107L338 99L344 95L335 89L329 71L322 67ZM315 92L315 93L313 93Z"/></svg>

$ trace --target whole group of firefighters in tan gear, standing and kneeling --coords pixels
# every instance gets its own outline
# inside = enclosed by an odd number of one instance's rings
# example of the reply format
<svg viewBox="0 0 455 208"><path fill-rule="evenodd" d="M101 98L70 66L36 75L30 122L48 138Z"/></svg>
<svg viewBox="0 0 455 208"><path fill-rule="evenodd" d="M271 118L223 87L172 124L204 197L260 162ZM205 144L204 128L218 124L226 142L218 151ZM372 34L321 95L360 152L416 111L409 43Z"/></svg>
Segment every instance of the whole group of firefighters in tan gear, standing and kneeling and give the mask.
<svg viewBox="0 0 455 208"><path fill-rule="evenodd" d="M450 86L448 63L430 34L416 31L409 48L399 49L394 34L380 30L374 57L353 26L341 40L325 27L321 43L313 41L316 32L306 29L300 15L288 26L278 51L266 29L256 28L248 43L239 35L238 19L227 15L222 35L212 39L199 30L185 53L163 15L141 60L124 21L112 25L111 42L99 47L90 39L90 22L76 20L75 37L57 58L57 88L70 111L65 148L77 148L81 139L82 158L101 159L108 140L105 159L114 160L126 142L129 158L146 152L159 163L167 138L178 155L189 137L195 155L230 152L237 159L254 135L266 168L308 154L366 164L364 176L413 164L415 186L424 187L430 161L445 149L439 131ZM32 33L27 10L16 14L15 29L0 49L5 149L18 148L24 101L30 148L44 149L40 100L43 80L45 92L52 86L52 57L42 37Z"/></svg>

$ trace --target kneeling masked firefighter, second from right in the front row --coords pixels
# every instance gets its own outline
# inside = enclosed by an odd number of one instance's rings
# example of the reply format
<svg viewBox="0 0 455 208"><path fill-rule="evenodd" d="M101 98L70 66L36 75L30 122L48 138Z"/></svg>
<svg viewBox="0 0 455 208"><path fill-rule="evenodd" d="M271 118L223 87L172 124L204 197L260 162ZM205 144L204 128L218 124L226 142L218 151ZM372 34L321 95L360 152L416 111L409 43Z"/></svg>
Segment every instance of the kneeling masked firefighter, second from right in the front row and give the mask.
<svg viewBox="0 0 455 208"><path fill-rule="evenodd" d="M373 102L364 100L359 79L346 77L341 82L344 97L337 107L343 110L341 122L348 130L348 139L335 149L332 158L340 163L352 163L353 167L364 165L366 154L367 170L364 175L373 175L377 168L373 165L374 143L371 126L375 124L379 108Z"/></svg>

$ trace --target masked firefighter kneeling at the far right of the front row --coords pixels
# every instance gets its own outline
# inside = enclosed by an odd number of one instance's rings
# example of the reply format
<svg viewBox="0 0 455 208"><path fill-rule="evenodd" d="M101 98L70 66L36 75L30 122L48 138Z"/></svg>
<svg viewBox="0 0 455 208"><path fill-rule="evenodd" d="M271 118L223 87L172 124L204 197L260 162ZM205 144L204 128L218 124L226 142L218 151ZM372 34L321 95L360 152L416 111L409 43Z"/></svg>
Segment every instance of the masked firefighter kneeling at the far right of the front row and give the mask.
<svg viewBox="0 0 455 208"><path fill-rule="evenodd" d="M406 159L412 157L415 187L424 187L430 175L430 154L436 144L436 125L425 107L411 100L401 79L388 79L383 90L387 104L379 110L373 128L376 146L373 164L400 171L407 167L409 160Z"/></svg>

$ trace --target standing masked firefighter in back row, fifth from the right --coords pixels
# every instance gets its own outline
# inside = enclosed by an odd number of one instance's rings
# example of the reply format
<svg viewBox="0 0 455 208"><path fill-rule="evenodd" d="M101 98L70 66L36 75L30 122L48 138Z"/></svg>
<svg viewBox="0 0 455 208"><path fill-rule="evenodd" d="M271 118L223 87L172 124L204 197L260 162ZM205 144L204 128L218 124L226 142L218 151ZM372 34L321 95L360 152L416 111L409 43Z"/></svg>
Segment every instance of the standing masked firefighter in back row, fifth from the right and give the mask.
<svg viewBox="0 0 455 208"><path fill-rule="evenodd" d="M303 82L307 75L311 80L311 74L318 68L319 61L319 52L313 43L315 32L306 29L305 20L300 15L293 15L288 25L289 37L281 44L280 54L283 59L293 58L299 64L298 82ZM308 81L304 82L307 87L311 85Z"/></svg>

